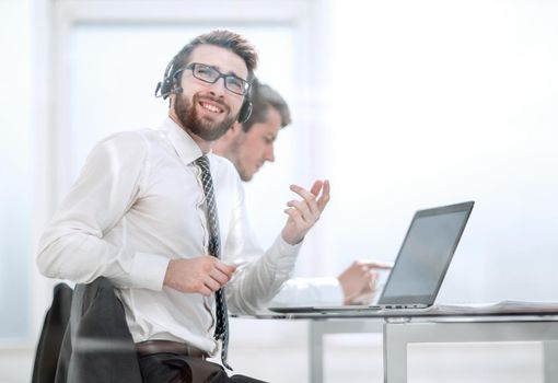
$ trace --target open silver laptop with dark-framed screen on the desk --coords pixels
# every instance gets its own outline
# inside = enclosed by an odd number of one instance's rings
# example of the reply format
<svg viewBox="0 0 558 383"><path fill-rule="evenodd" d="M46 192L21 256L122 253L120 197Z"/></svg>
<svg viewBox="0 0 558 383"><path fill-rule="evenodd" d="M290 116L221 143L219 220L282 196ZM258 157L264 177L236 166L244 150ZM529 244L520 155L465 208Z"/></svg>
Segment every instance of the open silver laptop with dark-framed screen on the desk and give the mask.
<svg viewBox="0 0 558 383"><path fill-rule="evenodd" d="M327 313L432 306L474 204L468 201L415 213L376 304L281 306L269 310L278 313Z"/></svg>

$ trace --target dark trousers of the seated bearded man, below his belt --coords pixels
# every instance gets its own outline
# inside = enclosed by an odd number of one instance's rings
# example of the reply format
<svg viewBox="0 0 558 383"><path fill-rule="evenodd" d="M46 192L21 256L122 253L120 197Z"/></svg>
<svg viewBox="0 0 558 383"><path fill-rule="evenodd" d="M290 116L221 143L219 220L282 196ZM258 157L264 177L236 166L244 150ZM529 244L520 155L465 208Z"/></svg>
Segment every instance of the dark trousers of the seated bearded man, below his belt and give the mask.
<svg viewBox="0 0 558 383"><path fill-rule="evenodd" d="M244 375L229 378L220 364L174 353L140 357L139 362L143 383L264 383Z"/></svg>

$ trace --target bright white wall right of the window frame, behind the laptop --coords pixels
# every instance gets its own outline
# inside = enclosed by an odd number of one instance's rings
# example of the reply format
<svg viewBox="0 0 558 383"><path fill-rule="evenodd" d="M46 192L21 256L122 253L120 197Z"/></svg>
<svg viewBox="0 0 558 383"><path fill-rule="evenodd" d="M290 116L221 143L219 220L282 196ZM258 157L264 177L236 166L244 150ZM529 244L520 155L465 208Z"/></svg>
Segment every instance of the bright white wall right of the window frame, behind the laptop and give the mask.
<svg viewBox="0 0 558 383"><path fill-rule="evenodd" d="M338 265L392 259L415 210L474 199L440 301L558 300L558 3L334 4Z"/></svg>

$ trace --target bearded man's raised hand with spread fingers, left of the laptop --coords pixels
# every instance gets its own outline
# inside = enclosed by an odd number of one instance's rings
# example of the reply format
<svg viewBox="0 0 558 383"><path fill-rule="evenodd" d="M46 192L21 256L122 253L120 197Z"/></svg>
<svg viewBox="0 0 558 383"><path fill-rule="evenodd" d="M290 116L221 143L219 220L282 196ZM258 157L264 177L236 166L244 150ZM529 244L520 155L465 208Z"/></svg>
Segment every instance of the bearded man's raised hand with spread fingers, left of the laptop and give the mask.
<svg viewBox="0 0 558 383"><path fill-rule="evenodd" d="M329 182L316 181L310 192L298 185L291 185L290 188L302 199L287 202L288 208L284 212L289 218L281 235L284 242L294 245L304 239L329 201Z"/></svg>

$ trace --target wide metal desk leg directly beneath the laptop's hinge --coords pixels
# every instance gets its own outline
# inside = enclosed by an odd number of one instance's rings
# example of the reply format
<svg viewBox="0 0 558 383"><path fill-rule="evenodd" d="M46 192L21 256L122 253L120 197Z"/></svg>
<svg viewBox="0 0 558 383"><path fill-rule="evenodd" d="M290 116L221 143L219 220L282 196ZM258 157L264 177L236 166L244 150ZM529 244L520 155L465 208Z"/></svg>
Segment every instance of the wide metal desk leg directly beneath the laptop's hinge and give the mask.
<svg viewBox="0 0 558 383"><path fill-rule="evenodd" d="M407 341L399 324L384 324L384 383L407 383Z"/></svg>

